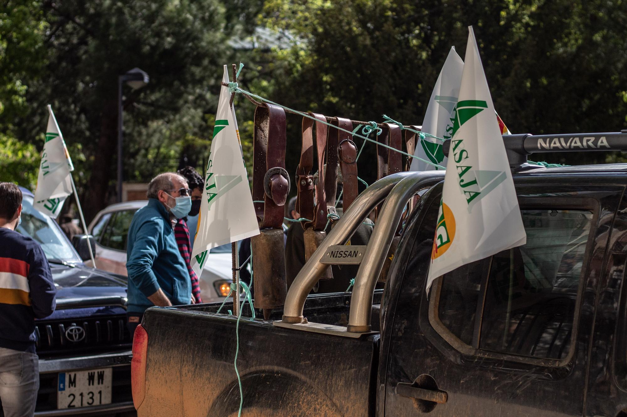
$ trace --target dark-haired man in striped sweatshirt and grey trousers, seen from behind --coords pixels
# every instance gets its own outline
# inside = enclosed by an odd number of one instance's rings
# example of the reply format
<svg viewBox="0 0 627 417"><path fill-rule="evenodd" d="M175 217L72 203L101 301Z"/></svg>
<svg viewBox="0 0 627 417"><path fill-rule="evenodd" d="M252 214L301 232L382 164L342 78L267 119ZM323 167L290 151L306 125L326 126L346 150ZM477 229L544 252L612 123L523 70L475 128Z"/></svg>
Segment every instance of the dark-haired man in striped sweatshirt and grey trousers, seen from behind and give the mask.
<svg viewBox="0 0 627 417"><path fill-rule="evenodd" d="M6 417L32 416L39 389L35 321L55 311L56 288L41 246L15 231L22 192L0 182L0 403Z"/></svg>

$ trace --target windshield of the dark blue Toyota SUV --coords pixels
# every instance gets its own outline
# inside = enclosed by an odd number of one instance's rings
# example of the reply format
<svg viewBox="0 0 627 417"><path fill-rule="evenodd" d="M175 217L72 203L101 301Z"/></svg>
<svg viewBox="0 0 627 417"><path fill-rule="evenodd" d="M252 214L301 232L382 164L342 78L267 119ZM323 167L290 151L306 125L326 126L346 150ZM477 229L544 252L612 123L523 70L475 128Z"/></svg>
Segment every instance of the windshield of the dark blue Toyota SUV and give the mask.
<svg viewBox="0 0 627 417"><path fill-rule="evenodd" d="M55 220L33 208L33 197L24 195L22 222L16 231L32 237L35 242L40 244L49 261L81 261L76 256L70 242L56 225Z"/></svg>

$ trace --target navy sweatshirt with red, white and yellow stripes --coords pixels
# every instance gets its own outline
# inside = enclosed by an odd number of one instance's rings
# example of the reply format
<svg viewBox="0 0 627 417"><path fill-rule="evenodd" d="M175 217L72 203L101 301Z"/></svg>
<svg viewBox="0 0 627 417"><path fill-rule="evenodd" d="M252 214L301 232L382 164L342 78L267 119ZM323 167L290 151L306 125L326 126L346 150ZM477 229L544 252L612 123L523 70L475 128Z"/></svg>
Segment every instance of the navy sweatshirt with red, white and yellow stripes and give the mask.
<svg viewBox="0 0 627 417"><path fill-rule="evenodd" d="M55 296L41 246L0 227L0 348L34 353L34 319L55 311Z"/></svg>

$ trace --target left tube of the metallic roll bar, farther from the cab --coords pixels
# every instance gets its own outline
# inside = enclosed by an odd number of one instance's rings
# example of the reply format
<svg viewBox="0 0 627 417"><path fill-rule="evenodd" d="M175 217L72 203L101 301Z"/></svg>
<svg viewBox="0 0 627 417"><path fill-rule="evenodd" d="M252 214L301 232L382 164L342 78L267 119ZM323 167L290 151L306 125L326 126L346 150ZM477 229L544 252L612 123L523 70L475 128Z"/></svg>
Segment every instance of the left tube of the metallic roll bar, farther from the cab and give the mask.
<svg viewBox="0 0 627 417"><path fill-rule="evenodd" d="M305 306L307 294L314 288L315 283L318 282L324 270L329 267L329 265L320 263L325 251L331 245L345 244L372 209L386 198L386 195L392 190L396 183L408 177L408 175L411 175L411 173L399 172L388 175L366 188L366 190L355 199L350 205L349 210L344 213L326 239L322 241L322 245L314 252L305 265L303 265L294 282L292 282L287 292L287 297L285 297L283 322L303 322L303 307Z"/></svg>

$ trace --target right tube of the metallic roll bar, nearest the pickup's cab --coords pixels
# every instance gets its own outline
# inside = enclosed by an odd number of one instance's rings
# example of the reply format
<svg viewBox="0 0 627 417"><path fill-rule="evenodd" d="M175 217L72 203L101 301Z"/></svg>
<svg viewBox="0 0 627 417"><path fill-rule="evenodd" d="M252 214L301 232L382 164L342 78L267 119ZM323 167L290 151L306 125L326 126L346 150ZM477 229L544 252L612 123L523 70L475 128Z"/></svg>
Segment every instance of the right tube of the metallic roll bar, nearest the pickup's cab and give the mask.
<svg viewBox="0 0 627 417"><path fill-rule="evenodd" d="M445 172L425 171L405 174L404 178L389 192L386 202L383 203L381 215L374 225L366 253L364 253L364 260L357 270L355 286L350 297L349 324L346 327L349 332L370 331L374 286L377 284L396 228L401 221L403 209L409 198L412 198L416 192L443 180ZM377 183L378 181L375 184Z"/></svg>

